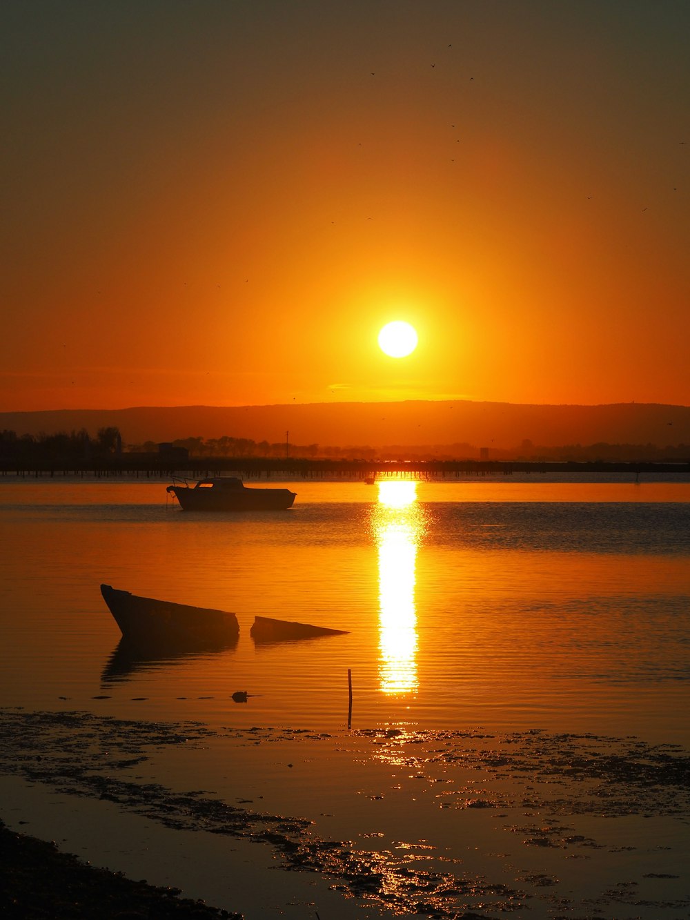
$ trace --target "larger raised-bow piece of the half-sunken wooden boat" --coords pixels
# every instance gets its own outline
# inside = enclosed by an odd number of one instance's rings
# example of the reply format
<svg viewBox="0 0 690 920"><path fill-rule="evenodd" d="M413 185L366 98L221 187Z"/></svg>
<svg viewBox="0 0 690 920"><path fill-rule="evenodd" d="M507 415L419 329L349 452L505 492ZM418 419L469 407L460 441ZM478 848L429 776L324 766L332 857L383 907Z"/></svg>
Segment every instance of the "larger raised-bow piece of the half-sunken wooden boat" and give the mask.
<svg viewBox="0 0 690 920"><path fill-rule="evenodd" d="M239 635L235 614L208 607L192 607L138 597L102 584L100 592L121 629L122 638L147 648L202 648L231 643Z"/></svg>

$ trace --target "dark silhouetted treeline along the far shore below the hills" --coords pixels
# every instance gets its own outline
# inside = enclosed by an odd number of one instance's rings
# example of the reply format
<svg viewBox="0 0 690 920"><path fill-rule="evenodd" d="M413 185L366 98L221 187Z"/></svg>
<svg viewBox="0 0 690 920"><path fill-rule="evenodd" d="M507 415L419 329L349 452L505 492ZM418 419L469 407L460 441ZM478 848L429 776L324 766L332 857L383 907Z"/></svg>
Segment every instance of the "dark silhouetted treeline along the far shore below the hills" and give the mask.
<svg viewBox="0 0 690 920"><path fill-rule="evenodd" d="M15 431L0 431L0 460L30 465L32 462L45 465L56 463L84 462L111 457L121 452L130 454L159 454L159 444L146 441L141 444L124 444L118 428L100 428L95 437L85 429L65 431L56 434L24 434ZM453 444L390 444L372 447L369 444L347 446L293 444L268 441L252 441L250 438L190 437L178 438L172 442L174 448L181 448L190 457L224 457L238 459L247 457L290 457L341 460L517 460L558 462L627 462L635 463L690 460L689 444L566 444L560 447L544 447L523 441L512 450L484 448L469 443Z"/></svg>

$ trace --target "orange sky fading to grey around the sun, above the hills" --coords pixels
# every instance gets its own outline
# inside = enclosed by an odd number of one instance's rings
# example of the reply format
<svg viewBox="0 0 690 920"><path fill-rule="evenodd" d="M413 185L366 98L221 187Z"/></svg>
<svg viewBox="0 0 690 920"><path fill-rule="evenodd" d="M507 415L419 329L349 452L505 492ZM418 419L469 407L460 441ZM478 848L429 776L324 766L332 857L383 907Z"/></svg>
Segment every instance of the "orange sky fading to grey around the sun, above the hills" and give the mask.
<svg viewBox="0 0 690 920"><path fill-rule="evenodd" d="M4 5L0 411L690 404L689 27L638 0Z"/></svg>

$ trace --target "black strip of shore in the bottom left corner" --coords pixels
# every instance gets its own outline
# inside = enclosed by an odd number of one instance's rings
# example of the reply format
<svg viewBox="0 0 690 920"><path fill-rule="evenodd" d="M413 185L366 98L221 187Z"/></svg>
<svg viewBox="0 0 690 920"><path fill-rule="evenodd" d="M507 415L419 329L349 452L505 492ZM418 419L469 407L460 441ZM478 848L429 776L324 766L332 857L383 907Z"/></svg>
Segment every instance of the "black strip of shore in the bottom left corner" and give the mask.
<svg viewBox="0 0 690 920"><path fill-rule="evenodd" d="M97 868L0 819L0 914L7 920L242 920L175 888Z"/></svg>

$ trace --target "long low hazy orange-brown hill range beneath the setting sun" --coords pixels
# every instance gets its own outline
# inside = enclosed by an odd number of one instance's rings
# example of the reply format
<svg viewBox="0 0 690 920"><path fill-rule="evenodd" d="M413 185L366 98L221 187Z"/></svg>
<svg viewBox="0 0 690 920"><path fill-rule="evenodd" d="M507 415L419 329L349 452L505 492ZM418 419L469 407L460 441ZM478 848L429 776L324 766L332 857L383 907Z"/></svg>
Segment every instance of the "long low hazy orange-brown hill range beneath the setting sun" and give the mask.
<svg viewBox="0 0 690 920"><path fill-rule="evenodd" d="M142 444L225 435L257 443L321 446L472 444L514 449L526 442L690 445L690 407L653 403L539 406L466 400L312 403L285 406L178 406L1 412L0 431L17 435L120 429L122 442ZM289 433L287 433L289 432Z"/></svg>

